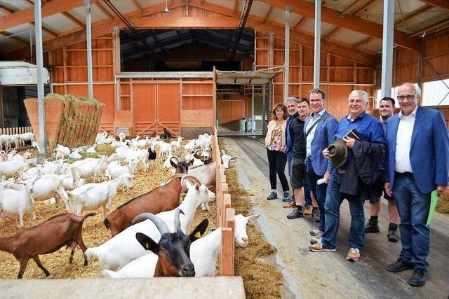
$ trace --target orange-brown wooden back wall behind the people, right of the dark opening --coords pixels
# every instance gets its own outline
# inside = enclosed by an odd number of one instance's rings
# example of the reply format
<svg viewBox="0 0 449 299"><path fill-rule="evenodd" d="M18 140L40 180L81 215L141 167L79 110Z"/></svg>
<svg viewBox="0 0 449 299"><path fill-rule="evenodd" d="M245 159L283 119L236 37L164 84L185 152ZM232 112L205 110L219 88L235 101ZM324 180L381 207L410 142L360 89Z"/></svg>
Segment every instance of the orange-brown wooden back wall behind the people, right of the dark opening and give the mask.
<svg viewBox="0 0 449 299"><path fill-rule="evenodd" d="M284 63L285 41L274 37L273 67ZM365 90L370 97L370 109L373 106L375 92L375 69L353 60L344 59L321 52L321 89L326 92L326 109L337 118L347 113L347 97L354 89ZM255 34L256 69L269 67L269 37L262 32ZM290 97L308 97L313 88L314 50L290 42ZM274 104L283 102L283 74L274 79Z"/></svg>

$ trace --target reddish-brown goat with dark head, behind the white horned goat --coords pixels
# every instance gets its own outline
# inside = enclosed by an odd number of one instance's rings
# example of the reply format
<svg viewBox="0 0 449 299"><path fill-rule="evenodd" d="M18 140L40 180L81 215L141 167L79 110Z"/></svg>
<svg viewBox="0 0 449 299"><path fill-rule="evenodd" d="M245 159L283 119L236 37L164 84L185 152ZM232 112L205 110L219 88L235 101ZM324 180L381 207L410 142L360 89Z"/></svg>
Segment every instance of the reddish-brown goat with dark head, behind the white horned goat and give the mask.
<svg viewBox="0 0 449 299"><path fill-rule="evenodd" d="M132 200L121 204L120 207L107 214L103 223L111 230L111 237L119 234L133 223L133 218L140 213L148 211L157 214L161 211L175 209L180 203L182 172L187 173L185 162L176 164L178 174L171 176L166 185L134 197ZM161 198L163 197L163 200Z"/></svg>

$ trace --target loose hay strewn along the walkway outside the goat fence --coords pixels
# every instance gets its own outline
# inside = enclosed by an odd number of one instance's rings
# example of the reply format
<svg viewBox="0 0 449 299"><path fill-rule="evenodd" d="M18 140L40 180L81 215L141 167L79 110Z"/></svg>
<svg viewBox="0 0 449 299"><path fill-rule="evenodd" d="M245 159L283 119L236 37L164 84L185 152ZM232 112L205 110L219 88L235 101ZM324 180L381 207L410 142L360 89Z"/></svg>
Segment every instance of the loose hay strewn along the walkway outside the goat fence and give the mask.
<svg viewBox="0 0 449 299"><path fill-rule="evenodd" d="M220 148L225 149L220 139L219 144ZM226 179L236 214L248 216L251 211L249 194L241 188L234 166L227 170ZM274 265L267 262L267 258L273 256L276 249L267 242L254 224L248 224L247 232L250 239L248 247L235 247L234 274L243 278L248 298L280 298L283 275Z"/></svg>

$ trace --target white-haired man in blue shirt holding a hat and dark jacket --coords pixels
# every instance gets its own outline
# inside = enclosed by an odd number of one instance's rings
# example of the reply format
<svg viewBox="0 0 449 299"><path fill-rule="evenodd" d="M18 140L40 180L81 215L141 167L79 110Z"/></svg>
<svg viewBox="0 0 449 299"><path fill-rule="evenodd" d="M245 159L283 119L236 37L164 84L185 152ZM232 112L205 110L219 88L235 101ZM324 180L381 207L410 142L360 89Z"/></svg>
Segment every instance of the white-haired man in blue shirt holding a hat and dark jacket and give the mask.
<svg viewBox="0 0 449 299"><path fill-rule="evenodd" d="M344 195L340 187L344 181L347 167L353 158L352 149L356 138L363 140L363 144L378 144L381 151L386 147L384 132L380 121L366 113L368 105L368 94L363 90L353 90L348 97L349 114L340 120L335 129L335 142L329 148L323 150L325 158L331 158L335 167L328 182L326 191L325 229L321 240L309 246L311 251L335 251L337 232L340 225L340 204ZM351 138L347 136L349 132ZM357 135L357 136L356 136ZM374 146L373 146L374 147ZM377 146L379 147L379 146ZM354 190L356 193L358 190ZM351 197L349 210L351 212L351 229L349 232L349 251L347 260L356 261L360 257L360 251L365 243L365 213L363 202L365 198Z"/></svg>

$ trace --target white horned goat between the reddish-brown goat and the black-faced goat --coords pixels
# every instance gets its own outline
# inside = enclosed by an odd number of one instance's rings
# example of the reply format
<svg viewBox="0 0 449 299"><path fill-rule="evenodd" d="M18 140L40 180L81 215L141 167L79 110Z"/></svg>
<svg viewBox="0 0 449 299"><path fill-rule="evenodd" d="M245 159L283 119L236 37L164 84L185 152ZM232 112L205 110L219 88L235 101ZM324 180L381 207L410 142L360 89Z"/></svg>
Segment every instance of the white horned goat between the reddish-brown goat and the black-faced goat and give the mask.
<svg viewBox="0 0 449 299"><path fill-rule="evenodd" d="M185 215L180 217L181 230L182 232L187 232L196 208L202 202L215 200L215 193L208 190L206 186L200 186L199 183L192 184L187 179L182 180L182 184L186 184L189 189L185 200L179 206L179 209L185 212ZM169 226L170 230L173 230L175 210L163 211L157 214L157 216ZM97 256L102 270L119 270L127 263L130 263L130 261L140 258L140 256L146 253L142 246L135 240L136 232L145 233L145 235L151 237L155 242L159 241L160 238L158 230L154 227L154 223L151 221L143 221L131 225L104 244L88 249L86 255Z"/></svg>

